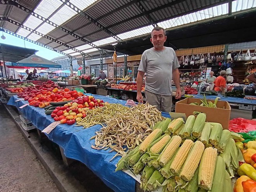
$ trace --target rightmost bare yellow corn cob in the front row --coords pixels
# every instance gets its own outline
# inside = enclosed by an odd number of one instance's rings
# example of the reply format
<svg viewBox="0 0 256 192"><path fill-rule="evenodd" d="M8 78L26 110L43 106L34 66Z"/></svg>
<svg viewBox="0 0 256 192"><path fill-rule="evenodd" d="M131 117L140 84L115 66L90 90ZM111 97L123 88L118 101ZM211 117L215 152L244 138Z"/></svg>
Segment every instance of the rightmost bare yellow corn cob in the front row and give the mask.
<svg viewBox="0 0 256 192"><path fill-rule="evenodd" d="M211 190L213 184L213 175L216 165L217 150L213 147L207 147L204 150L199 165L198 185L202 189Z"/></svg>

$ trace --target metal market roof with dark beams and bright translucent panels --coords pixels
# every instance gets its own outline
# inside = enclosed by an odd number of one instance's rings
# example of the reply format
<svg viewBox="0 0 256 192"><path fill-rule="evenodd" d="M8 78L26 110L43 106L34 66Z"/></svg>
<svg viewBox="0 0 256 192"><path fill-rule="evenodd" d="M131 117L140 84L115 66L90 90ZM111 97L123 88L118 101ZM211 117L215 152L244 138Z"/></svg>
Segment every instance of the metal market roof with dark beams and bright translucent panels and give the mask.
<svg viewBox="0 0 256 192"><path fill-rule="evenodd" d="M100 47L256 7L256 0L1 0L0 27L69 57L95 59ZM123 53L126 53L125 51Z"/></svg>

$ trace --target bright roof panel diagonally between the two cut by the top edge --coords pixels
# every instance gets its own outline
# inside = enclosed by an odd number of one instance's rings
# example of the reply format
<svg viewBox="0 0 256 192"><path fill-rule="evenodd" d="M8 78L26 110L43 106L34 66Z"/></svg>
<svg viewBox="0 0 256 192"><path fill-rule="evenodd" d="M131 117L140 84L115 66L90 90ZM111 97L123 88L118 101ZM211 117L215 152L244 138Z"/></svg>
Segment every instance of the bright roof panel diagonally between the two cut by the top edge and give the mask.
<svg viewBox="0 0 256 192"><path fill-rule="evenodd" d="M71 9L69 6L64 5L60 10L57 11L57 13L50 17L49 20L57 25L61 25L76 14L76 11Z"/></svg>

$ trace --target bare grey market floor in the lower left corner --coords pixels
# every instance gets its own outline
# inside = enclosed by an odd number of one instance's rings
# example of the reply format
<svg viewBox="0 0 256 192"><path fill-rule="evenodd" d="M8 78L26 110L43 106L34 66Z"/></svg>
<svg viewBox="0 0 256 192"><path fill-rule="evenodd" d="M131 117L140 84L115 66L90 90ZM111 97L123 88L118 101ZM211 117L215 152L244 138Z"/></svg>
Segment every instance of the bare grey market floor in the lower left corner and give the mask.
<svg viewBox="0 0 256 192"><path fill-rule="evenodd" d="M59 192L0 105L0 192Z"/></svg>

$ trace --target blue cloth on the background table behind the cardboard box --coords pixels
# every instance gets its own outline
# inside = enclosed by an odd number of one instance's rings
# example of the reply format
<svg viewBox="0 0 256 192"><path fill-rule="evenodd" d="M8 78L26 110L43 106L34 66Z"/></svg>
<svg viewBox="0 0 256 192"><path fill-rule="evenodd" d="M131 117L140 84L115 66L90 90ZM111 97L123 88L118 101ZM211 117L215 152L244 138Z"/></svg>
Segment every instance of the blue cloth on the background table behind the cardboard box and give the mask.
<svg viewBox="0 0 256 192"><path fill-rule="evenodd" d="M202 95L193 95L195 99L202 99ZM222 101L227 101L229 103L234 103L234 104L245 104L245 105L254 105L256 106L256 100L251 100L251 99L244 99L244 98L239 98L239 97L223 97L221 94L218 94L218 96L215 95L209 95L206 96L206 99L212 99L214 100L216 97L220 97Z"/></svg>

